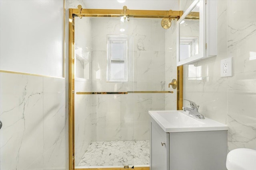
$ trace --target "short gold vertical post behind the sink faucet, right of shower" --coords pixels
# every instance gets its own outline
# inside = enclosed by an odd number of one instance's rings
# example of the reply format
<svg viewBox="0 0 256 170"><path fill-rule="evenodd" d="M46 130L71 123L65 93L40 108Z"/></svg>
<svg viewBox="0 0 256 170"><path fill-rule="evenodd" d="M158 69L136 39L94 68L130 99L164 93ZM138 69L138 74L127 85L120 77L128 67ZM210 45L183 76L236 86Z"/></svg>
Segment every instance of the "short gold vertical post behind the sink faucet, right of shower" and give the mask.
<svg viewBox="0 0 256 170"><path fill-rule="evenodd" d="M177 110L183 107L183 66L177 67Z"/></svg>

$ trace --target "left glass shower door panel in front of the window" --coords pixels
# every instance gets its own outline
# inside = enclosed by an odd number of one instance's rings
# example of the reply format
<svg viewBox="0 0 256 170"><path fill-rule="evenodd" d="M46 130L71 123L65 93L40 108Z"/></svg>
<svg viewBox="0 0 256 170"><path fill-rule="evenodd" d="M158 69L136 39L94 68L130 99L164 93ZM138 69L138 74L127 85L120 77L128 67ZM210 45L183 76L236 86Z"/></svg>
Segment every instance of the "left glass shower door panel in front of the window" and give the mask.
<svg viewBox="0 0 256 170"><path fill-rule="evenodd" d="M134 164L134 115L127 105L132 101L127 91L133 91L133 38L126 24L120 18L75 18L76 168Z"/></svg>

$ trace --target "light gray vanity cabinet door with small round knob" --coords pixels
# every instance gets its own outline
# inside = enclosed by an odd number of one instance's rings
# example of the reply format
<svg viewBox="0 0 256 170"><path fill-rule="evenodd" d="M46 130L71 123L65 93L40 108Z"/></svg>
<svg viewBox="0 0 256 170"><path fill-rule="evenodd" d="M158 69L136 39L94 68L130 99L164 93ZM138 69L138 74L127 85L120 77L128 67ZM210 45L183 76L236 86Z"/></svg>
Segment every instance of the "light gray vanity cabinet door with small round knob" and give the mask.
<svg viewBox="0 0 256 170"><path fill-rule="evenodd" d="M169 133L155 121L150 129L150 170L169 170Z"/></svg>

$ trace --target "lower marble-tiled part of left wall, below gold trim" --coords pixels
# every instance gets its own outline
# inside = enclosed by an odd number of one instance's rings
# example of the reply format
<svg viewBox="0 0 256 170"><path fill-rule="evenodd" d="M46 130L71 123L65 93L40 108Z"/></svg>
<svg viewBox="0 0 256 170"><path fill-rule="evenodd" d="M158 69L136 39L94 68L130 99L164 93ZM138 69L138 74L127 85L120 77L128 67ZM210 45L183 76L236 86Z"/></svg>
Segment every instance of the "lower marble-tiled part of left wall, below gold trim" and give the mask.
<svg viewBox="0 0 256 170"><path fill-rule="evenodd" d="M0 73L0 166L66 170L65 80Z"/></svg>

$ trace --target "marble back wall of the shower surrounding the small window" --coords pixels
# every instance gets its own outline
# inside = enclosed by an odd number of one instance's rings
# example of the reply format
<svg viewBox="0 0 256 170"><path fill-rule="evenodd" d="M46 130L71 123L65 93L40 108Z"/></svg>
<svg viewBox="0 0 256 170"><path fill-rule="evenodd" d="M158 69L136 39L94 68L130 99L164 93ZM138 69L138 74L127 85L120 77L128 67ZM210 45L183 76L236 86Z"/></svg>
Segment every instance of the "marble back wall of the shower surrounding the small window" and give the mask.
<svg viewBox="0 0 256 170"><path fill-rule="evenodd" d="M159 19L94 18L92 91L165 90L165 30ZM120 32L124 28L124 32ZM106 35L128 35L128 82L106 82ZM148 140L148 110L165 107L164 94L97 95L92 140Z"/></svg>

